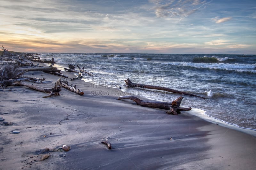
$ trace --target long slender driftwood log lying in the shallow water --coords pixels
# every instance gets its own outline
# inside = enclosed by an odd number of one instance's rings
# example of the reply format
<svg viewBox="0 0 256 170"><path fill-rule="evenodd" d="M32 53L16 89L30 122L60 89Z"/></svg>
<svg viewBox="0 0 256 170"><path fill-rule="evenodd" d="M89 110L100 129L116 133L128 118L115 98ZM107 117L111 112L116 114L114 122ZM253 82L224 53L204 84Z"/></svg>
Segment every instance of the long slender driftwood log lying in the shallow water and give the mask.
<svg viewBox="0 0 256 170"><path fill-rule="evenodd" d="M141 87L141 88L147 88L147 89L164 90L164 91L167 91L167 92L178 93L178 94L183 94L183 95L188 95L188 96L195 96L195 97L200 97L202 99L205 99L204 97L197 96L195 94L190 94L190 93L187 93L187 92L182 92L182 91L174 90L174 89L171 89L171 88L155 86L155 85L144 85L144 84L139 84L139 83L132 83L132 81L129 78L127 80L124 80L124 81L125 81L125 83L128 87Z"/></svg>

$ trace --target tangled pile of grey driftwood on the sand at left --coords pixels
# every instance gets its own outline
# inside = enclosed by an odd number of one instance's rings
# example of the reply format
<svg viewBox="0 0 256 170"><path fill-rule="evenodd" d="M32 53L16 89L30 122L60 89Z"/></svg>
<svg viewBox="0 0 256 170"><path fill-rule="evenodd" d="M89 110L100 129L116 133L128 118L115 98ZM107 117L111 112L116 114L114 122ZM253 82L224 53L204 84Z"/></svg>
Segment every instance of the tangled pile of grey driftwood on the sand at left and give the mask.
<svg viewBox="0 0 256 170"><path fill-rule="evenodd" d="M76 89L75 85L74 86L68 85L68 81L61 80L61 78L57 80L53 88L43 88L37 85L32 85L30 83L27 83L27 82L32 82L37 84L52 83L52 81L45 81L44 78L24 77L23 74L28 71L43 71L45 73L50 73L50 74L58 75L65 78L67 78L68 76L62 74L60 72L61 71L60 69L53 67L53 64L51 64L48 67L42 67L42 66L39 66L39 64L35 66L33 63L27 60L28 57L26 53L18 53L18 54L10 53L4 47L2 50L3 52L0 60L0 64L2 64L0 67L1 87L6 88L7 86L22 85L40 92L49 93L49 95L45 97L60 95L59 92L61 91L61 87L64 87L79 95L84 94L84 92L82 92L80 89ZM28 55L31 56L31 54L28 54Z"/></svg>

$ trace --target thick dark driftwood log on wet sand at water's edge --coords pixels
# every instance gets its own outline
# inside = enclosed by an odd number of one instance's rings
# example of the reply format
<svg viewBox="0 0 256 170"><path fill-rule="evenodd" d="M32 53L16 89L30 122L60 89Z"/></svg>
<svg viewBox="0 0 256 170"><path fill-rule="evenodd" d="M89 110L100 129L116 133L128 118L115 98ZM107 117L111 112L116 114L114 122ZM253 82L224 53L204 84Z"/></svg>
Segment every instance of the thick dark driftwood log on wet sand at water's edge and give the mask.
<svg viewBox="0 0 256 170"><path fill-rule="evenodd" d="M153 102L153 101L144 101L140 100L139 98L135 96L120 96L118 100L121 99L130 99L135 101L137 105L143 106L143 107L151 107L151 108L160 108L160 109L165 109L168 110L166 113L173 114L173 115L178 115L180 111L188 111L191 110L191 107L185 108L185 107L180 107L181 100L183 97L179 97L178 99L174 100L172 103L169 102Z"/></svg>

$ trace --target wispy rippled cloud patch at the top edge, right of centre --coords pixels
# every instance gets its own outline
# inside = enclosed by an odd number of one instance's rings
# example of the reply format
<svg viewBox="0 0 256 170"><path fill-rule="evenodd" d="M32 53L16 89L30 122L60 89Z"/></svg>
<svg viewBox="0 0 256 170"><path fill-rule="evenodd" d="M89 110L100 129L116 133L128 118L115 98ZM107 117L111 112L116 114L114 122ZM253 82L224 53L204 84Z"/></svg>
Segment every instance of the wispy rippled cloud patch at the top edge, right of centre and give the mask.
<svg viewBox="0 0 256 170"><path fill-rule="evenodd" d="M150 0L155 4L155 14L157 17L187 17L195 13L200 7L206 4L206 1L200 0ZM198 5L201 5L197 7Z"/></svg>

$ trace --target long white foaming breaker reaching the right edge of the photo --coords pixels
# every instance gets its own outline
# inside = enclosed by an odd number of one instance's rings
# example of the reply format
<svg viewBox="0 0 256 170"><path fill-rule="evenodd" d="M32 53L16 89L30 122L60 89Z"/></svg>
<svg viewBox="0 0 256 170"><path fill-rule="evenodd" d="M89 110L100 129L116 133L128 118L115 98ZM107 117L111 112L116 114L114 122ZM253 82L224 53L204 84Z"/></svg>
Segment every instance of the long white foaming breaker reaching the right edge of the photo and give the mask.
<svg viewBox="0 0 256 170"><path fill-rule="evenodd" d="M160 62L161 64L174 66L189 66L195 68L221 69L236 72L256 73L256 64L228 64L228 63L191 63L191 62Z"/></svg>

